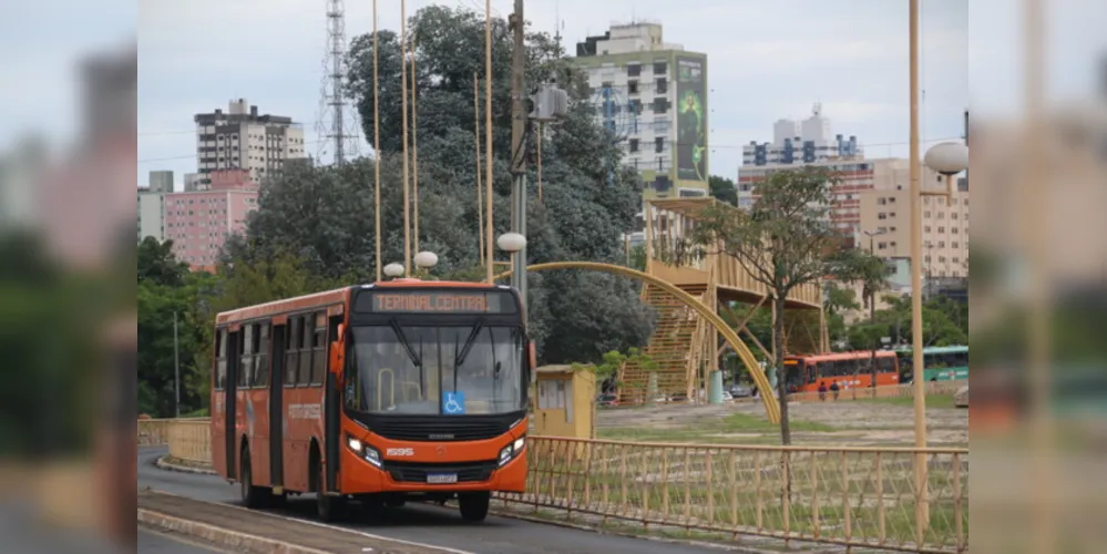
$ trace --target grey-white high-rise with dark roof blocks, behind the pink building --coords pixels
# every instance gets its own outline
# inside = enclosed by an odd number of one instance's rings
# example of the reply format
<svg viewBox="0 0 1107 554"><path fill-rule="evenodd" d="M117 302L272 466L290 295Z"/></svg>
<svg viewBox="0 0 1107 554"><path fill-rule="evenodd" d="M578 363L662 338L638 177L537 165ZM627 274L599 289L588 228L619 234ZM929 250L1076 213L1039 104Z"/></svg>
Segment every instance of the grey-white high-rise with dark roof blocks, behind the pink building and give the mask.
<svg viewBox="0 0 1107 554"><path fill-rule="evenodd" d="M291 117L258 115L244 99L232 101L227 112L199 113L196 122L197 189L211 186L211 173L244 170L254 183L279 175L286 160L303 158L304 129Z"/></svg>

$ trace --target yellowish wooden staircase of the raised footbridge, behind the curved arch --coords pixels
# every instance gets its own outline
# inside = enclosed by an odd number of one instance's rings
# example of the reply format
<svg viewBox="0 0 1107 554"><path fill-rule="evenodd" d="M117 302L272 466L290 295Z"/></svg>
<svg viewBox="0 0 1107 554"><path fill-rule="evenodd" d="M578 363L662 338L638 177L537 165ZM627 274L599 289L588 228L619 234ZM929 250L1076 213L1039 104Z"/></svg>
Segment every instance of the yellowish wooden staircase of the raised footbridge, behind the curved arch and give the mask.
<svg viewBox="0 0 1107 554"><path fill-rule="evenodd" d="M698 300L703 300L707 293L706 286L681 288ZM654 332L644 349L652 367L637 362L623 367L618 376L619 402L638 404L688 399L689 393L698 390L695 377L704 361L701 347L708 335L710 340L715 340L714 328L691 308L658 287L644 285L642 296L656 314ZM656 373L653 386L652 372Z"/></svg>

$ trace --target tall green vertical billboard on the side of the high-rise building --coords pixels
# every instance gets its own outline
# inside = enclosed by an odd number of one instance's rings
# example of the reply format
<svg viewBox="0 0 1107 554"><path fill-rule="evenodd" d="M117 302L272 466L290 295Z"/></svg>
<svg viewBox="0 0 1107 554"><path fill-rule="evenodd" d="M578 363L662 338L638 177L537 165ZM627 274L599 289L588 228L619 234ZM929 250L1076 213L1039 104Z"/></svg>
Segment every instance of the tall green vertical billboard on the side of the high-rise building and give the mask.
<svg viewBox="0 0 1107 554"><path fill-rule="evenodd" d="M707 86L705 59L676 58L677 178L707 181Z"/></svg>

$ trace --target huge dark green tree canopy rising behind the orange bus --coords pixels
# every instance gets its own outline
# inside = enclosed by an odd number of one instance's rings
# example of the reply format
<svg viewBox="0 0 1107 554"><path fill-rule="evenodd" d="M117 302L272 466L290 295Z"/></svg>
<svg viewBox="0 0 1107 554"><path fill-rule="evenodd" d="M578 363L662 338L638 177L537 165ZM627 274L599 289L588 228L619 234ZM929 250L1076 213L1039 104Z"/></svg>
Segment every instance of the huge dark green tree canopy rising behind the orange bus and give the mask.
<svg viewBox="0 0 1107 554"><path fill-rule="evenodd" d="M478 164L473 134L473 73L483 80L483 14L432 6L411 17L409 25L418 72L419 248L438 254L439 265L432 271L437 278L483 277L475 268L482 230L476 172L483 176L484 164ZM348 90L370 144L373 94L380 94L382 261L387 264L403 257L401 55L397 34L380 31L377 88L372 42L371 34L353 39ZM510 59L506 22L496 20L492 153L496 236L509 230ZM634 226L642 181L631 168L608 179L606 167L621 166L622 153L594 121L585 102L586 82L556 42L545 33L527 33L527 59L529 89L556 74L571 98L567 116L544 125L541 137L534 132L527 135L530 156L536 152L536 141L543 141L544 182L540 203L531 164L527 263L623 263L621 235ZM483 95L480 105L483 110ZM242 265L257 266L287 255L318 283L372 280L377 261L373 163L359 158L338 167L293 164L283 175L263 183L246 236L228 242L221 270L237 274ZM502 253L500 257L506 259ZM634 283L578 271L534 275L530 281L531 335L543 363L598 360L609 350L640 346L649 336L649 311Z"/></svg>

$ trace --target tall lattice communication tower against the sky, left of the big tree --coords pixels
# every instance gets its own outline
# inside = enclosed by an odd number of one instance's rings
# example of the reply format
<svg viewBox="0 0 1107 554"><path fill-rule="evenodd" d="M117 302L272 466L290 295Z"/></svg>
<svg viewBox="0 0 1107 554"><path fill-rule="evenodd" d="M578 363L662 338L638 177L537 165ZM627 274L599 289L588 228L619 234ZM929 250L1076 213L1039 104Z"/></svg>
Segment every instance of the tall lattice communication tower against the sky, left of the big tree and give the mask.
<svg viewBox="0 0 1107 554"><path fill-rule="evenodd" d="M322 59L322 83L319 90L319 136L317 157L328 152L335 165L358 155L359 130L357 111L348 105L346 82L349 65L346 60L346 4L327 0L327 51Z"/></svg>

